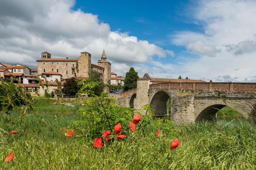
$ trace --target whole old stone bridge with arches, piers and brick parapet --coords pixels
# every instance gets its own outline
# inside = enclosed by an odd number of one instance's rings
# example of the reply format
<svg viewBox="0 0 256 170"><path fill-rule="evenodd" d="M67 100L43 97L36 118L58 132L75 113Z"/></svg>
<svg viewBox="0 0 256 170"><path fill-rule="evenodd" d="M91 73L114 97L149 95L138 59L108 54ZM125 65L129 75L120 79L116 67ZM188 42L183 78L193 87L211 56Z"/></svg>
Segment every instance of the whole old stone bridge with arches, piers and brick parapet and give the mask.
<svg viewBox="0 0 256 170"><path fill-rule="evenodd" d="M215 120L216 113L229 106L246 118L256 116L256 83L197 82L159 83L149 85L149 79L137 81L132 89L116 97L116 104L141 109L149 104L156 117L168 113L171 99L171 117L176 123Z"/></svg>

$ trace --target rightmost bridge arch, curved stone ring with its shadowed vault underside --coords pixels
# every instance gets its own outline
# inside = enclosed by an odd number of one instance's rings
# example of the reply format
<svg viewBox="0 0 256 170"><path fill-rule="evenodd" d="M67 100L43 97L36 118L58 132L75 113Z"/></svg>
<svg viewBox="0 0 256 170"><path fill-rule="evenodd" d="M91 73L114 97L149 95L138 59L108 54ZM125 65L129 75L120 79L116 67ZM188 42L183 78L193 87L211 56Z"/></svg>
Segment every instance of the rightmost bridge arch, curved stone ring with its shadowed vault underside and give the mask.
<svg viewBox="0 0 256 170"><path fill-rule="evenodd" d="M207 105L202 106L195 113L195 122L200 120L215 121L217 119L216 113L225 106L229 106L230 108L238 111L245 119L249 118L249 115L247 113L244 113L244 111L241 111L241 109L237 108L232 103L225 103L220 99L218 101L209 102L207 103Z"/></svg>

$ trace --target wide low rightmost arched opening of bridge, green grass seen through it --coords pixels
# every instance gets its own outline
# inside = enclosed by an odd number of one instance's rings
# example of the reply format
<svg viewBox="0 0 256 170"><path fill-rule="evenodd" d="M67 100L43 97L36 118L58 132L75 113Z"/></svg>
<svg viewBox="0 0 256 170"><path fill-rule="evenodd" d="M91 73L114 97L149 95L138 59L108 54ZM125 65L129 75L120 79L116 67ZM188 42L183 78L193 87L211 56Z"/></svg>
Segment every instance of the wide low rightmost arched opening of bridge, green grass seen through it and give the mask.
<svg viewBox="0 0 256 170"><path fill-rule="evenodd" d="M211 105L205 108L197 116L195 121L218 121L218 122L228 122L229 120L240 119L245 121L246 119L242 117L241 113L233 108L226 105Z"/></svg>

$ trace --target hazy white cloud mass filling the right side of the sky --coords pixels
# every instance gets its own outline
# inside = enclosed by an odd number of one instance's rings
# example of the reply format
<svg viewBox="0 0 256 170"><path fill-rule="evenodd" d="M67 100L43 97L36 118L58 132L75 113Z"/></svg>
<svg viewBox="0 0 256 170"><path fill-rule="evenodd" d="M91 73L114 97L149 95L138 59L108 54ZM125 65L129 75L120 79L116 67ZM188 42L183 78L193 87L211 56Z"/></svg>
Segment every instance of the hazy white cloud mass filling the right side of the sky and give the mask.
<svg viewBox="0 0 256 170"><path fill-rule="evenodd" d="M213 81L255 80L255 8L252 0L200 0L192 6L191 22L202 31L181 30L172 36L172 42L184 46L190 56L180 61L180 71ZM191 57L191 51L199 57Z"/></svg>

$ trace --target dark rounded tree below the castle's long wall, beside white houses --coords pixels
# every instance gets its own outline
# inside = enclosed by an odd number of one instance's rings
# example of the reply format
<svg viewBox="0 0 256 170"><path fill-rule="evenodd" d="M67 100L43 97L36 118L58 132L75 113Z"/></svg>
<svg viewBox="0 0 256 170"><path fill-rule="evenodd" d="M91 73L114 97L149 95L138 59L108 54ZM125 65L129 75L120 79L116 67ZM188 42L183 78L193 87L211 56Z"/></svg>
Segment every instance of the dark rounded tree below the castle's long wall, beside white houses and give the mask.
<svg viewBox="0 0 256 170"><path fill-rule="evenodd" d="M62 89L64 94L73 95L73 96L76 95L78 90L79 90L79 87L77 85L77 80L75 77L72 77L71 79L67 79Z"/></svg>

